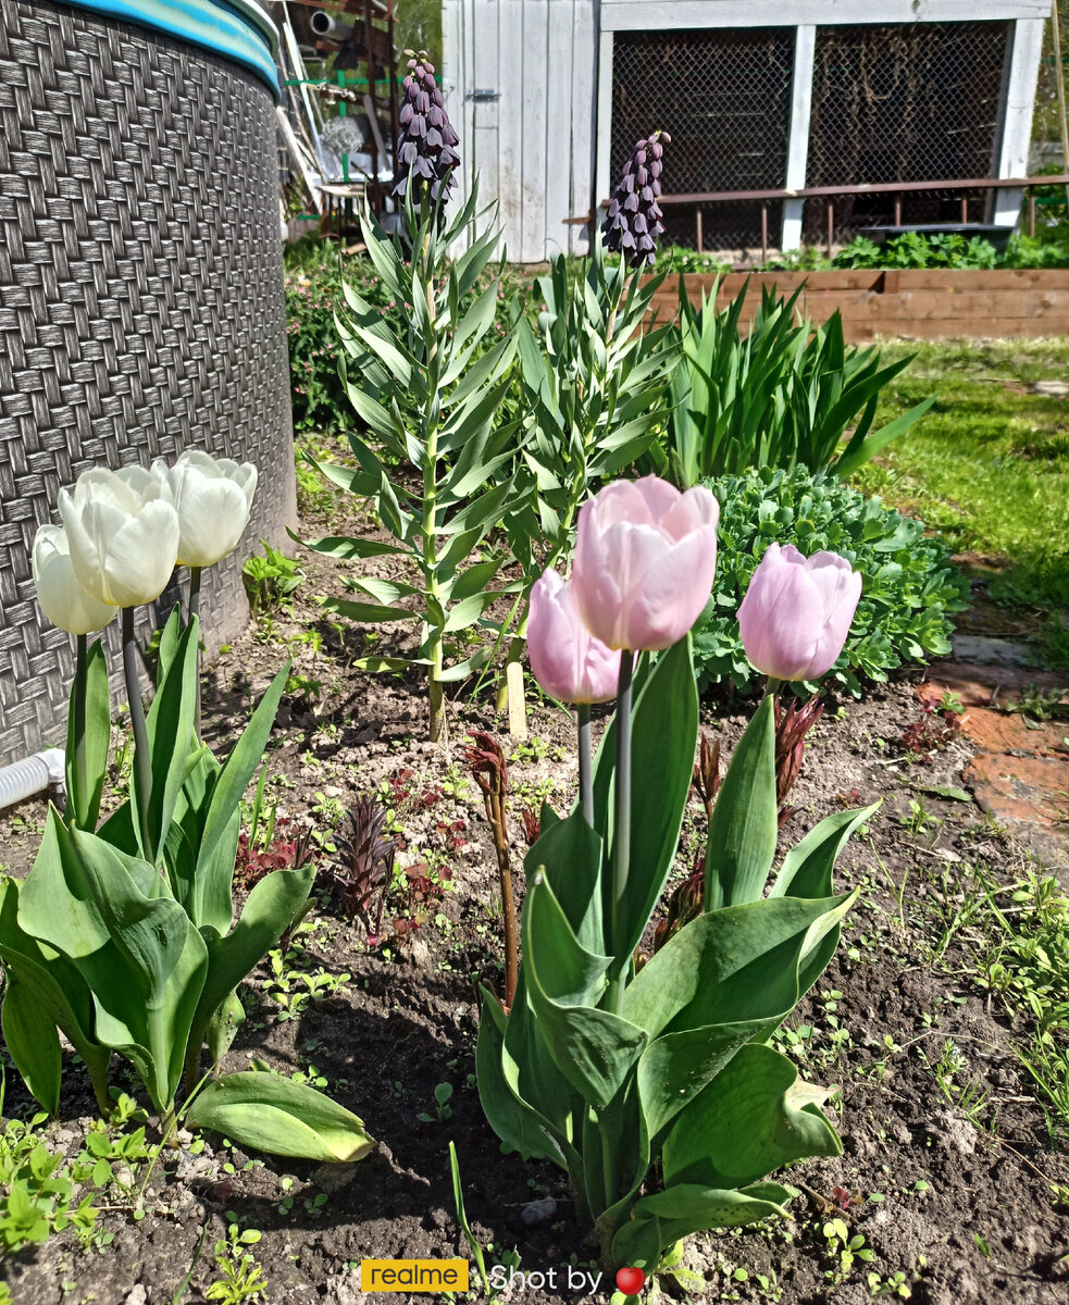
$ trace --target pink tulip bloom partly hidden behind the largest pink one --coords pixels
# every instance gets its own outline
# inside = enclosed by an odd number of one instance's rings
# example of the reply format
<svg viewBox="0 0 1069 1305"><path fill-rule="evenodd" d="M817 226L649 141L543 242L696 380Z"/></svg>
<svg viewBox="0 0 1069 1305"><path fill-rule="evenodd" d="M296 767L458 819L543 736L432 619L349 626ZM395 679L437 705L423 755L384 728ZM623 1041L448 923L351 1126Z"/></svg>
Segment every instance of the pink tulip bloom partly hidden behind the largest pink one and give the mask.
<svg viewBox="0 0 1069 1305"><path fill-rule="evenodd" d="M620 654L586 629L572 602L572 586L548 570L531 590L527 654L542 688L563 702L607 702L616 697Z"/></svg>

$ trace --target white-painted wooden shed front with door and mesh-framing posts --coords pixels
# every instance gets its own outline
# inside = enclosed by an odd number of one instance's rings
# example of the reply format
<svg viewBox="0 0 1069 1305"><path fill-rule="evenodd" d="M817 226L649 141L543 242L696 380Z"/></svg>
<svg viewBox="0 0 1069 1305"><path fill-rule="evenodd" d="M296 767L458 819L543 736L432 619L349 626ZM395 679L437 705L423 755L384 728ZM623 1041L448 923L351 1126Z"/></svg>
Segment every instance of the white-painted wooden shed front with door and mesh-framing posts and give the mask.
<svg viewBox="0 0 1069 1305"><path fill-rule="evenodd" d="M442 0L444 90L461 137L461 185L499 206L505 252L539 262L586 248L569 218L611 192L612 34L629 30L796 26L787 185L804 185L816 27L839 23L1013 20L997 176L1022 175L1048 0ZM798 57L800 56L800 57ZM653 124L651 124L653 125ZM1012 224L1019 193L997 192ZM801 205L783 206L783 248Z"/></svg>

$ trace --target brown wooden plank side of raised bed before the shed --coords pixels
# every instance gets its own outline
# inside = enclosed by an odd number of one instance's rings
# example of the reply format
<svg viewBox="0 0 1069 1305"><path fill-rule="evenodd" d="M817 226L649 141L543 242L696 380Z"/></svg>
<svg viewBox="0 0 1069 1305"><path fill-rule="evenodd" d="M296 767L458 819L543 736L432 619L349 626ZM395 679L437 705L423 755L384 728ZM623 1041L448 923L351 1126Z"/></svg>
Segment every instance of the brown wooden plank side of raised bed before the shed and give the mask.
<svg viewBox="0 0 1069 1305"><path fill-rule="evenodd" d="M692 301L701 303L715 281L711 273L690 273L687 288ZM731 273L719 283L717 305L730 303L747 281L744 325L753 320L762 288L790 295L804 283L801 311L822 322L838 308L850 342L877 335L1069 335L1069 269ZM653 311L660 321L676 315L675 279L668 278L654 296Z"/></svg>

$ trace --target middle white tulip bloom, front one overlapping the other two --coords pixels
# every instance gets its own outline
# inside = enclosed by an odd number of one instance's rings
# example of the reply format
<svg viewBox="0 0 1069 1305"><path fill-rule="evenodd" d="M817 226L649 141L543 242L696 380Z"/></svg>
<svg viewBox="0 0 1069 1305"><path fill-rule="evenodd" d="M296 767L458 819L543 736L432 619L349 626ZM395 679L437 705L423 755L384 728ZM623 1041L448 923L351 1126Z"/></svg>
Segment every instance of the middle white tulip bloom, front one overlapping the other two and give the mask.
<svg viewBox="0 0 1069 1305"><path fill-rule="evenodd" d="M60 489L70 561L80 583L112 607L151 603L167 587L179 545L178 513L144 467L95 467L73 493Z"/></svg>

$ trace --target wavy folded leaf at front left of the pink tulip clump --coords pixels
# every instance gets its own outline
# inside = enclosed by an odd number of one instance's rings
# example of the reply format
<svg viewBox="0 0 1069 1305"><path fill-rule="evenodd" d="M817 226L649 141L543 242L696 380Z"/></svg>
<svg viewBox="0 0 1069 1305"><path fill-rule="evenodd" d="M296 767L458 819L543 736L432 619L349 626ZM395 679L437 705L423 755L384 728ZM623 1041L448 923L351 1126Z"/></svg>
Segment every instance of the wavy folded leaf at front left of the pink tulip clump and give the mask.
<svg viewBox="0 0 1069 1305"><path fill-rule="evenodd" d="M580 946L542 874L527 889L522 936L527 1000L550 1054L582 1099L604 1109L646 1045L641 1028L596 1009L612 958Z"/></svg>

